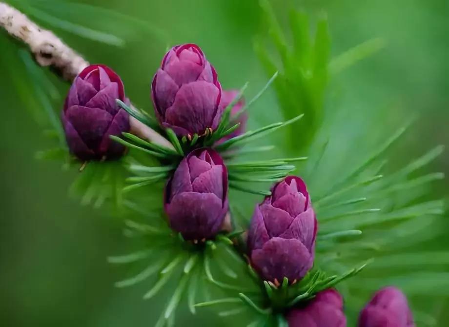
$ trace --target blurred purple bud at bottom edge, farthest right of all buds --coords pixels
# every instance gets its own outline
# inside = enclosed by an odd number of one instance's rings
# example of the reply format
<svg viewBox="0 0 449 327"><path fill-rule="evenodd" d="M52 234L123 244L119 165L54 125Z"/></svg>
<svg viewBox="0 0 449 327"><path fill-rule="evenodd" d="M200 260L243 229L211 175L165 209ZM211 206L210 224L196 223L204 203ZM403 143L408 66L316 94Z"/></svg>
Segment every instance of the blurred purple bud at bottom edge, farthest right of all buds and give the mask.
<svg viewBox="0 0 449 327"><path fill-rule="evenodd" d="M407 298L396 287L385 287L374 294L360 312L359 327L415 327Z"/></svg>

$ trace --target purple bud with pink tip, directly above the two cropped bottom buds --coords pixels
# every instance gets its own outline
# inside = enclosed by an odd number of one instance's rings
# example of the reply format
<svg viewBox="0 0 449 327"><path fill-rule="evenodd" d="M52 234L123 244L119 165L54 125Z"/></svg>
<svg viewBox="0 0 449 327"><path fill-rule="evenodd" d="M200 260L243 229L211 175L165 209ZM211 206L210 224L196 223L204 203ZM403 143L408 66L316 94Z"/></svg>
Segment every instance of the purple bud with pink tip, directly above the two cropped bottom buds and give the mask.
<svg viewBox="0 0 449 327"><path fill-rule="evenodd" d="M304 181L296 176L272 188L256 206L248 233L251 265L275 284L303 278L313 266L317 220Z"/></svg>

